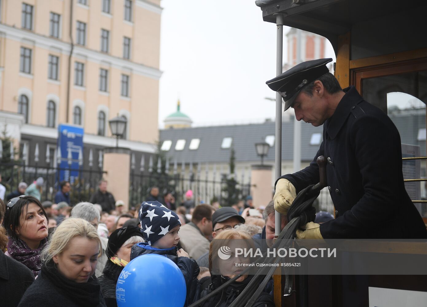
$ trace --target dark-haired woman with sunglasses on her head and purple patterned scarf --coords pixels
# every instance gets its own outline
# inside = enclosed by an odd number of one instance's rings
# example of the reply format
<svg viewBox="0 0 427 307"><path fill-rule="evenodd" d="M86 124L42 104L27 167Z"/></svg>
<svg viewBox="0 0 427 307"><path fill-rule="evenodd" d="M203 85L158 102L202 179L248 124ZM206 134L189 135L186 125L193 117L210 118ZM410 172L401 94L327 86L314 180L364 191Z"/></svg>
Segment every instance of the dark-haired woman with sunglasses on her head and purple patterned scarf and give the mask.
<svg viewBox="0 0 427 307"><path fill-rule="evenodd" d="M9 236L5 254L24 264L36 277L48 235L46 212L40 201L24 195L12 198L6 204L3 225Z"/></svg>

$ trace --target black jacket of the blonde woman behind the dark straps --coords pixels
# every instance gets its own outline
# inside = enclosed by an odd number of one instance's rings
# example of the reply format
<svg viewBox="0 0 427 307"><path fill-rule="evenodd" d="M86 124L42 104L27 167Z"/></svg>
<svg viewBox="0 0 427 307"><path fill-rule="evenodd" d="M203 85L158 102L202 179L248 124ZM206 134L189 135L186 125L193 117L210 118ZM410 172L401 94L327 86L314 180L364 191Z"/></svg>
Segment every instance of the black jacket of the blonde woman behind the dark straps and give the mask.
<svg viewBox="0 0 427 307"><path fill-rule="evenodd" d="M203 304L200 306L202 307L227 307L229 306L242 291L245 289L246 285L249 284L249 281L252 280L254 275L249 275L244 281L242 282L233 282L228 285L225 289L222 291L219 291L218 294L213 295L213 297L206 300ZM222 284L224 284L226 281L228 281L230 278L224 277L222 275L212 275L212 282L209 285L208 288L204 289L200 295L200 297L204 297L211 293L216 288L220 287ZM251 294L252 295L252 294ZM260 296L257 298L255 303L252 305L252 307L274 307L274 301L271 295L269 295L267 292L261 292Z"/></svg>

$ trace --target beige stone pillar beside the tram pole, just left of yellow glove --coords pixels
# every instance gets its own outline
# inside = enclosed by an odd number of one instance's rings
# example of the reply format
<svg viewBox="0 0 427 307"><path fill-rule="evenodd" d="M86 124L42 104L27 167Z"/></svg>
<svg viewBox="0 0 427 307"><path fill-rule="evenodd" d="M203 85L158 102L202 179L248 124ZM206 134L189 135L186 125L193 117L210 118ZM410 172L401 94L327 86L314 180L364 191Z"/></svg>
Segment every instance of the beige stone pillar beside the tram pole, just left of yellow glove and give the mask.
<svg viewBox="0 0 427 307"><path fill-rule="evenodd" d="M266 206L273 199L271 165L251 166L251 195L255 208Z"/></svg>

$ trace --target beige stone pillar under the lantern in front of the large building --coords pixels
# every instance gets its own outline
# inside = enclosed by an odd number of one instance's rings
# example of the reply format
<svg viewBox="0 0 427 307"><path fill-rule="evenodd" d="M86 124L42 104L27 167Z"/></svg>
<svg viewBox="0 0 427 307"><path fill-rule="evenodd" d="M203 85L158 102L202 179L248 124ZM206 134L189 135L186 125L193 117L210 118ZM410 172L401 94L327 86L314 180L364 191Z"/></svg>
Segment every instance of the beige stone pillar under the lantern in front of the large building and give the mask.
<svg viewBox="0 0 427 307"><path fill-rule="evenodd" d="M108 181L107 190L114 199L123 200L129 209L129 174L131 150L122 147L107 147L104 149L104 179Z"/></svg>

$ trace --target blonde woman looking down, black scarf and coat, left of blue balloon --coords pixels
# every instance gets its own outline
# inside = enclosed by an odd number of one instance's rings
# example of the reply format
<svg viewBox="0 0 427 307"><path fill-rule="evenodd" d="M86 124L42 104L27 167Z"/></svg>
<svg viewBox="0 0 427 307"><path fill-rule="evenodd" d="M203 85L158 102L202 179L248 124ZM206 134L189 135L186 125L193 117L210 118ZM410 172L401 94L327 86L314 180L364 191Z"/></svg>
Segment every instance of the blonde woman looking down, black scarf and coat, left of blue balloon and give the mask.
<svg viewBox="0 0 427 307"><path fill-rule="evenodd" d="M18 306L105 307L94 276L101 253L93 225L79 218L64 220L43 251L41 274Z"/></svg>

